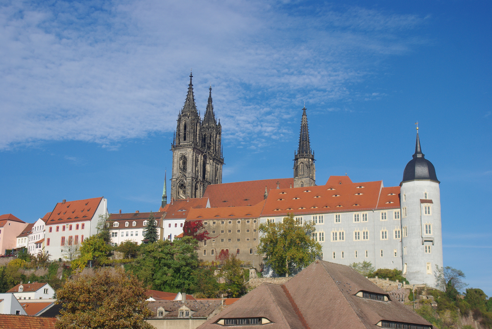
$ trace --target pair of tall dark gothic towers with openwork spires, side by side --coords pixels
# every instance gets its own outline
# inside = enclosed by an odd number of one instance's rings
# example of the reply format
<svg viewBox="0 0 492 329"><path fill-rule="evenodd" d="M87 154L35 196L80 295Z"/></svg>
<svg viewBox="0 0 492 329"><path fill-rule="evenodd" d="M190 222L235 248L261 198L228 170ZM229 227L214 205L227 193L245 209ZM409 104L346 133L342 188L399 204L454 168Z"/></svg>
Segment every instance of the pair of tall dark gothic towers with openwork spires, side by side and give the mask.
<svg viewBox="0 0 492 329"><path fill-rule="evenodd" d="M220 122L215 121L212 87L203 122L196 110L193 96L193 75L189 75L188 93L178 117L173 151L171 197L184 199L202 197L209 184L222 183Z"/></svg>

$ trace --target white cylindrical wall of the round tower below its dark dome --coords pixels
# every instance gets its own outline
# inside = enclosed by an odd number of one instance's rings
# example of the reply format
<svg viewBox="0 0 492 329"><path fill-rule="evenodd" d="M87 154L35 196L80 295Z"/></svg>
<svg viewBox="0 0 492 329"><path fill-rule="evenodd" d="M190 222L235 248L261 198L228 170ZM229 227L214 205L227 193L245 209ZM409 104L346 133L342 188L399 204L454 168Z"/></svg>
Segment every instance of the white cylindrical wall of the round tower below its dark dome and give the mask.
<svg viewBox="0 0 492 329"><path fill-rule="evenodd" d="M432 200L431 215L424 214L424 205L420 199ZM431 181L411 181L401 185L401 209L406 207L406 217L401 225L407 227L407 237L402 238L403 267L406 264L406 278L411 284L426 283L435 285L435 266L442 267L441 203L439 184ZM406 198L406 201L404 200ZM425 234L425 223L432 224L432 234ZM422 243L422 238L434 238L434 245ZM425 253L425 245L431 246L431 253ZM404 250L404 249L402 249ZM427 263L431 263L431 274L427 274Z"/></svg>

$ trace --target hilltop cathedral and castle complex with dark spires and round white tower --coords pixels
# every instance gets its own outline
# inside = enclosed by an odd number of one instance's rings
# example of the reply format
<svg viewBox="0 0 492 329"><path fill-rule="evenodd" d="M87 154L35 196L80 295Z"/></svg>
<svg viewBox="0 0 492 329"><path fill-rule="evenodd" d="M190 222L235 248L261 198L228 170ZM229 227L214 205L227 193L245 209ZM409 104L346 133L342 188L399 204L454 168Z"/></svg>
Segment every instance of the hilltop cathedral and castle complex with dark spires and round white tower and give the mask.
<svg viewBox="0 0 492 329"><path fill-rule="evenodd" d="M164 236L179 238L185 220L203 220L216 236L200 243L200 257L213 261L221 250L236 250L259 270L258 225L293 213L298 223L315 224L312 238L322 246L323 259L344 265L370 261L376 269L400 270L411 284L435 286L436 267L443 266L440 182L422 153L418 128L400 186L352 182L346 175L316 185L307 109L302 110L292 178L222 183L221 126L212 87L202 120L190 74L172 144L171 200L167 203L164 183L159 210L166 212Z"/></svg>

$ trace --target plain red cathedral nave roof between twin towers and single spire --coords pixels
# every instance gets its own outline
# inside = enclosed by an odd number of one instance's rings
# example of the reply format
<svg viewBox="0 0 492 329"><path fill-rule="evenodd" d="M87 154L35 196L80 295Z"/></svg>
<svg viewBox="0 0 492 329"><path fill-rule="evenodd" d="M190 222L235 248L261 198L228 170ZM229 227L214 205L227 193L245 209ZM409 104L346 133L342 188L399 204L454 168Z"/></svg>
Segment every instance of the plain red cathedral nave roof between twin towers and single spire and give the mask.
<svg viewBox="0 0 492 329"><path fill-rule="evenodd" d="M255 205L264 200L265 186L267 191L288 189L294 185L293 178L262 179L235 183L212 184L207 186L203 197L210 199L211 207L241 207Z"/></svg>

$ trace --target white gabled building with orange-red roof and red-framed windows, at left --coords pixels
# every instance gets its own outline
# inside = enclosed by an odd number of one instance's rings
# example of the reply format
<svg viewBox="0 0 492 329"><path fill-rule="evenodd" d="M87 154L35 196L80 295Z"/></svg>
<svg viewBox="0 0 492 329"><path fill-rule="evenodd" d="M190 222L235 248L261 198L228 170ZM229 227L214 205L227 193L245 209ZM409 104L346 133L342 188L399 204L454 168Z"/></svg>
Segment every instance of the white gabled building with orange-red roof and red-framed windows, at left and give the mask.
<svg viewBox="0 0 492 329"><path fill-rule="evenodd" d="M45 247L51 259L63 259L62 248L78 245L85 238L97 234L100 217L108 216L108 202L104 197L58 202L52 212L46 214Z"/></svg>

